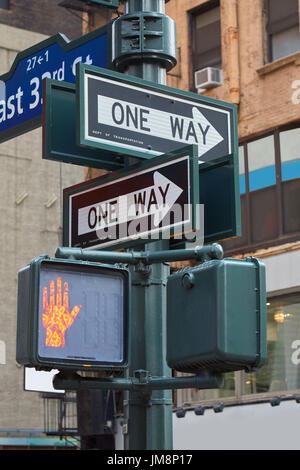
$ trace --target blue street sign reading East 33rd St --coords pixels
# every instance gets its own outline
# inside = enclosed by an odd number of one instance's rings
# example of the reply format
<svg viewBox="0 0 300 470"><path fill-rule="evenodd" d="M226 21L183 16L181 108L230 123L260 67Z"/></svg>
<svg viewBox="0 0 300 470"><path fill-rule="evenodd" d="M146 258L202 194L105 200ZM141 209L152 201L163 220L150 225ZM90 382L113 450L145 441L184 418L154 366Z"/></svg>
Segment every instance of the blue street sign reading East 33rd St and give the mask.
<svg viewBox="0 0 300 470"><path fill-rule="evenodd" d="M104 26L71 42L56 34L19 52L0 76L0 142L41 125L44 78L75 83L78 62L107 68L107 44Z"/></svg>

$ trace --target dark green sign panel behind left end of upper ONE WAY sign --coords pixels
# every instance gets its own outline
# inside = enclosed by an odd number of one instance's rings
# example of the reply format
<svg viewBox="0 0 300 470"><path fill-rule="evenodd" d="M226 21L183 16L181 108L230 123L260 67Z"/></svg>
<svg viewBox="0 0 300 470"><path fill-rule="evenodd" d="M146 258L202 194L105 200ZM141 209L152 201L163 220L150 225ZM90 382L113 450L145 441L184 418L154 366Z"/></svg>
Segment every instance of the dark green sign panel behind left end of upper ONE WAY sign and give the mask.
<svg viewBox="0 0 300 470"><path fill-rule="evenodd" d="M104 170L124 167L124 157L81 147L76 139L76 87L43 80L43 158Z"/></svg>

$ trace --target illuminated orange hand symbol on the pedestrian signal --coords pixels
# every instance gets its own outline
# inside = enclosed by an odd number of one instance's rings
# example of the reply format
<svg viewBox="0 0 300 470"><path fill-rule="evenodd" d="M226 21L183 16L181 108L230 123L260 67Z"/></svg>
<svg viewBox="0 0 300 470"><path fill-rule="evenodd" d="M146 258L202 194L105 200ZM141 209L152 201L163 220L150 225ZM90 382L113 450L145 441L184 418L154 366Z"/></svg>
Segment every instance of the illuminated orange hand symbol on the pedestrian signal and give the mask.
<svg viewBox="0 0 300 470"><path fill-rule="evenodd" d="M69 285L64 283L62 298L61 278L55 282L50 281L50 303L48 303L48 288L43 287L43 326L46 328L46 346L63 348L65 346L65 333L77 317L81 305L75 305L69 312Z"/></svg>

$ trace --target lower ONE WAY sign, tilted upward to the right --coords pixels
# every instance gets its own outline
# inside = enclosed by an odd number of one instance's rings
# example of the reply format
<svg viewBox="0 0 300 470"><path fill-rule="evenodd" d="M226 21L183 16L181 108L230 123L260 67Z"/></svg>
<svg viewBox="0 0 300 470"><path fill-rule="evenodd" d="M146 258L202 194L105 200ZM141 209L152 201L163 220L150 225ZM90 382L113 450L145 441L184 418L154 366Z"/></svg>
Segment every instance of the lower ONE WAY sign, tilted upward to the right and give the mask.
<svg viewBox="0 0 300 470"><path fill-rule="evenodd" d="M64 190L64 246L125 248L198 229L197 147Z"/></svg>

